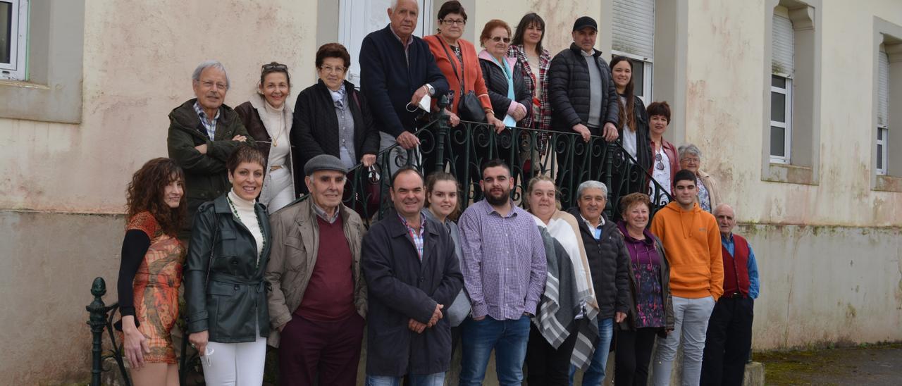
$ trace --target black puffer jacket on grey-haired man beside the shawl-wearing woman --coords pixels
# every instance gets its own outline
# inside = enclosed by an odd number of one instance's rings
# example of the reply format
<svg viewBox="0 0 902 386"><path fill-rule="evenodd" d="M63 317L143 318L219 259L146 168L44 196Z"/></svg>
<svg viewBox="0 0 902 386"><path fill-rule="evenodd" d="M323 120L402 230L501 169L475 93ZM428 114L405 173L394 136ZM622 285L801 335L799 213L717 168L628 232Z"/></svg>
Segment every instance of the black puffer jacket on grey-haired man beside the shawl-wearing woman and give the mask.
<svg viewBox="0 0 902 386"><path fill-rule="evenodd" d="M595 240L593 232L585 225L578 207L567 210L579 223L579 234L583 237L585 257L592 273L595 299L598 300L598 318L614 317L614 312L626 314L632 305L630 294L630 251L623 244L623 234L617 225L604 218L602 237Z"/></svg>

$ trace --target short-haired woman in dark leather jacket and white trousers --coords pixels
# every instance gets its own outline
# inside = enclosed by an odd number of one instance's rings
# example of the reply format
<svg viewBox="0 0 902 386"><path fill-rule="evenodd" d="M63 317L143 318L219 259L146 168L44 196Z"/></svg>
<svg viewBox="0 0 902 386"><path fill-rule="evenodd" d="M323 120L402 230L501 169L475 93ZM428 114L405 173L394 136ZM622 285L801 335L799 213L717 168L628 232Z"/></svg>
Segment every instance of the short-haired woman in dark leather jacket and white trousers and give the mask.
<svg viewBox="0 0 902 386"><path fill-rule="evenodd" d="M185 299L189 342L201 355L207 385L262 382L269 335L263 271L272 235L266 208L255 199L265 163L257 149L239 147L226 161L231 190L195 215Z"/></svg>

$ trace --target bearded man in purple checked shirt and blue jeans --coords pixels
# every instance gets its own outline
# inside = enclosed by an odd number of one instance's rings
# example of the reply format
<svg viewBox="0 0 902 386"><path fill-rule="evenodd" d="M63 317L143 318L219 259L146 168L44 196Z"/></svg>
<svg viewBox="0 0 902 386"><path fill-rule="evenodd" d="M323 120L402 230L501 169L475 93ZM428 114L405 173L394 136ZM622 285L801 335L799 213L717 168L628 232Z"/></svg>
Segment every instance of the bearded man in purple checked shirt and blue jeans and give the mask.
<svg viewBox="0 0 902 386"><path fill-rule="evenodd" d="M498 382L523 381L529 318L545 289L545 246L532 216L511 201L511 168L502 161L483 165L485 199L460 218L464 286L473 314L462 327L461 385L480 385L495 350Z"/></svg>

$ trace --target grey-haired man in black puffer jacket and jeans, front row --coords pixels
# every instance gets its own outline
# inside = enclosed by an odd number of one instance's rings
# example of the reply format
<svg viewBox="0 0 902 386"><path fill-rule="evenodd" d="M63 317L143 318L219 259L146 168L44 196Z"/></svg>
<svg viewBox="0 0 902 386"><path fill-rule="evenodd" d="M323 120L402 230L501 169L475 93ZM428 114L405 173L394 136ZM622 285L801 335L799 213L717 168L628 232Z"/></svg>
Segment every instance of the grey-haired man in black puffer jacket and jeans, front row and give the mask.
<svg viewBox="0 0 902 386"><path fill-rule="evenodd" d="M595 299L598 300L598 342L592 363L583 374L583 384L604 381L605 365L613 336L613 324L626 318L632 304L630 293L630 252L614 222L605 218L608 189L603 183L588 180L576 190L578 207L568 212L578 219L585 255L592 273ZM573 376L571 375L571 381Z"/></svg>

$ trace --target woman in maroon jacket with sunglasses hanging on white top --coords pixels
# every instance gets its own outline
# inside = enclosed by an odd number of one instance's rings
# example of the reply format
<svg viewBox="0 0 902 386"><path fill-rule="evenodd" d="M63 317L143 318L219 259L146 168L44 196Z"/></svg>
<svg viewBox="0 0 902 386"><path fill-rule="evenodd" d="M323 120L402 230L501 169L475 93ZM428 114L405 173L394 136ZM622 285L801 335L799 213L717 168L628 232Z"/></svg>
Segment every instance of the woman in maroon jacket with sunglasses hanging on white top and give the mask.
<svg viewBox="0 0 902 386"><path fill-rule="evenodd" d="M661 188L670 193L674 175L679 170L679 160L676 158L676 147L673 143L664 139L667 132L667 124L670 124L670 106L667 102L652 102L648 108L649 113L649 137L651 139L651 177L658 182ZM651 187L651 193L655 194L655 187ZM664 192L658 192L658 198L667 200Z"/></svg>

